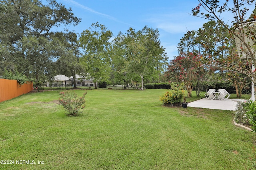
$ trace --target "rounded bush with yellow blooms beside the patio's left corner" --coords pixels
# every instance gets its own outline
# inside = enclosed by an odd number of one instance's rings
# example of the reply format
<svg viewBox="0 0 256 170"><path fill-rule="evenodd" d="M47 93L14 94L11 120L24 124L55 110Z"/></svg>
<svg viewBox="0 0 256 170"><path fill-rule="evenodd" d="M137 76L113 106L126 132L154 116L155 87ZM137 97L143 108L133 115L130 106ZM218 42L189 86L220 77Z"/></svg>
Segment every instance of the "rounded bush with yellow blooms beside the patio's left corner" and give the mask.
<svg viewBox="0 0 256 170"><path fill-rule="evenodd" d="M164 104L174 104L179 103L184 96L184 90L176 83L171 84L171 89L168 90L165 94L160 96L161 102Z"/></svg>

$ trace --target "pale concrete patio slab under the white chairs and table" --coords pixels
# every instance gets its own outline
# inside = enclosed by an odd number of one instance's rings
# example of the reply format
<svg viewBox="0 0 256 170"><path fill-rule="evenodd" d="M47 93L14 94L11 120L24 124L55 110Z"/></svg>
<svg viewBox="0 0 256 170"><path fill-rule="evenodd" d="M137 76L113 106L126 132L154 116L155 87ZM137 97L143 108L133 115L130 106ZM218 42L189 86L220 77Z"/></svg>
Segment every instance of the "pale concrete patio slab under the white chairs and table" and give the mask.
<svg viewBox="0 0 256 170"><path fill-rule="evenodd" d="M194 102L188 103L188 107L199 107L207 109L220 109L220 110L236 110L236 104L242 99L227 99L227 100L210 100L203 98Z"/></svg>

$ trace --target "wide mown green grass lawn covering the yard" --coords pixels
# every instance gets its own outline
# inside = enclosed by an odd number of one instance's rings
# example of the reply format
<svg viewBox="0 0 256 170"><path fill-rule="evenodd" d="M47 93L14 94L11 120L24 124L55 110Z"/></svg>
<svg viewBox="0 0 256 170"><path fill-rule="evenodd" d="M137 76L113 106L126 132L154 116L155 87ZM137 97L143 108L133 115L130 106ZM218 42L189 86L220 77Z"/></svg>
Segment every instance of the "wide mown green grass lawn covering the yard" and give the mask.
<svg viewBox="0 0 256 170"><path fill-rule="evenodd" d="M2 102L0 160L14 164L0 169L253 169L256 135L234 111L164 107L165 91L87 90L77 117L57 104L60 91Z"/></svg>

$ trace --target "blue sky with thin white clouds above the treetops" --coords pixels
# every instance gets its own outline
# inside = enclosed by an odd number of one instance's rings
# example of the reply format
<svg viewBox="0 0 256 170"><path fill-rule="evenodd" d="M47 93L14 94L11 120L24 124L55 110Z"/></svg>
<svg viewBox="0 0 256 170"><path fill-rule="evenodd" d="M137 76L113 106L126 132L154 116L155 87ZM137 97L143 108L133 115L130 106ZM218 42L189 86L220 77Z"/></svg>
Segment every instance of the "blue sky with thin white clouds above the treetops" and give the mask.
<svg viewBox="0 0 256 170"><path fill-rule="evenodd" d="M104 24L113 35L126 33L132 27L136 31L145 25L158 29L161 45L169 59L178 55L177 45L186 31L198 30L208 20L191 16L198 0L56 0L82 21L68 29L82 33L92 23Z"/></svg>

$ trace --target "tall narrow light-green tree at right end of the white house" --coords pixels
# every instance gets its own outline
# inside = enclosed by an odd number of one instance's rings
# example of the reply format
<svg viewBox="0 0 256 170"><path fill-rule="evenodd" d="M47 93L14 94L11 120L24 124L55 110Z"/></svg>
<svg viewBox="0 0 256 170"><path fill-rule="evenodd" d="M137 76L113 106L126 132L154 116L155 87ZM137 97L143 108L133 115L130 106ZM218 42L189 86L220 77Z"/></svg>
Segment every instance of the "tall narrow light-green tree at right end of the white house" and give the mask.
<svg viewBox="0 0 256 170"><path fill-rule="evenodd" d="M106 81L110 77L110 41L112 32L98 22L81 33L80 43L84 51L81 58L86 68L84 76L92 78L95 88L96 82Z"/></svg>

